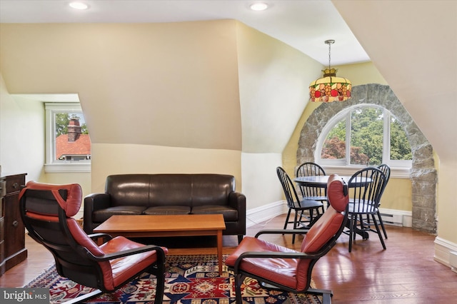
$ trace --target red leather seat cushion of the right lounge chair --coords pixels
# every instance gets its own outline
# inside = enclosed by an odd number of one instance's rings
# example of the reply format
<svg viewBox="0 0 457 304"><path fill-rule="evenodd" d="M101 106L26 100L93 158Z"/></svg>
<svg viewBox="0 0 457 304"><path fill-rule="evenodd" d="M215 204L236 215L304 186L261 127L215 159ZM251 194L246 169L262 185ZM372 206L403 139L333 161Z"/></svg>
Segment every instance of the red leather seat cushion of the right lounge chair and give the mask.
<svg viewBox="0 0 457 304"><path fill-rule="evenodd" d="M229 255L226 265L234 266L236 259L246 251L275 252L275 253L296 253L280 245L269 243L265 240L246 236L238 245L236 250ZM298 260L295 258L245 258L240 268L247 273L258 275L289 288L296 288L296 270Z"/></svg>

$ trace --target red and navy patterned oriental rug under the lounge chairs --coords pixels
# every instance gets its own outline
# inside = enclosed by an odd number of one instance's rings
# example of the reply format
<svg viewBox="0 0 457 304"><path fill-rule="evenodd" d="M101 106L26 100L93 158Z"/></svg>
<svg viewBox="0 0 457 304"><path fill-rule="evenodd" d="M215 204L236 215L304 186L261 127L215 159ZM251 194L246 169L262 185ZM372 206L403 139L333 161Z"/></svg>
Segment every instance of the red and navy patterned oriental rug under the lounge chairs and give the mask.
<svg viewBox="0 0 457 304"><path fill-rule="evenodd" d="M224 255L224 260L227 255ZM85 303L154 303L156 278L142 274L131 283L104 293ZM74 283L57 274L52 265L25 288L49 288L50 303L63 303L93 288ZM256 280L246 278L242 286L243 304L311 304L321 303L316 295L294 294L262 288ZM216 255L169 255L166 257L164 304L238 304L235 300L233 273L219 276Z"/></svg>

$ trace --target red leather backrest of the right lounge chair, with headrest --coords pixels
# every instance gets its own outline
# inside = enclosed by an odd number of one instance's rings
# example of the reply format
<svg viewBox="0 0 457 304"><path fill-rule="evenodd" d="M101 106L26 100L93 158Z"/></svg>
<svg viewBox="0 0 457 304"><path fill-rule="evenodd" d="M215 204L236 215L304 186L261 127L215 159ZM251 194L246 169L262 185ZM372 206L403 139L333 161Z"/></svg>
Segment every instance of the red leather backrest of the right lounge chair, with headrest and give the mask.
<svg viewBox="0 0 457 304"><path fill-rule="evenodd" d="M308 230L301 251L316 254L315 259L301 259L297 265L297 289L305 288L311 280L311 270L318 258L328 253L343 232L348 219L348 188L343 178L329 176L327 183L329 206L316 223Z"/></svg>

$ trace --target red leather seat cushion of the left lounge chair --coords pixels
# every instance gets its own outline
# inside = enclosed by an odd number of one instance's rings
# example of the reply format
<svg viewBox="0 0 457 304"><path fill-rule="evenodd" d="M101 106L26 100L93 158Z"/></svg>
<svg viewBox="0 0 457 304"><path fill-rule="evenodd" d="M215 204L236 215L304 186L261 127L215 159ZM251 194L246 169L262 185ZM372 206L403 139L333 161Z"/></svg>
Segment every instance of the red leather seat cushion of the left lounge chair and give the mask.
<svg viewBox="0 0 457 304"><path fill-rule="evenodd" d="M100 249L104 253L119 253L119 251L129 250L134 248L140 248L144 245L136 243L132 240L124 238L123 236L117 236L102 244ZM168 253L166 248L163 248L165 254ZM145 253L138 253L135 255L127 255L123 258L116 258L109 260L111 264L112 280L109 279L110 275L104 273L105 288L107 290L115 290L116 286L126 282L136 273L146 269L149 265L155 263L157 260L156 250L146 251Z"/></svg>

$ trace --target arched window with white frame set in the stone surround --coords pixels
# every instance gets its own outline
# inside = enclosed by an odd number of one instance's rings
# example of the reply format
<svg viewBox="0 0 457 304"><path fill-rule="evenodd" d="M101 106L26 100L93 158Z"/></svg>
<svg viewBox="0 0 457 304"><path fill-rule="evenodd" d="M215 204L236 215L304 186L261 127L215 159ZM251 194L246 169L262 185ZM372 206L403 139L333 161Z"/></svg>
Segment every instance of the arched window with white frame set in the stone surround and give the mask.
<svg viewBox="0 0 457 304"><path fill-rule="evenodd" d="M359 103L328 121L318 138L315 159L323 166L411 168L405 131L386 108Z"/></svg>

